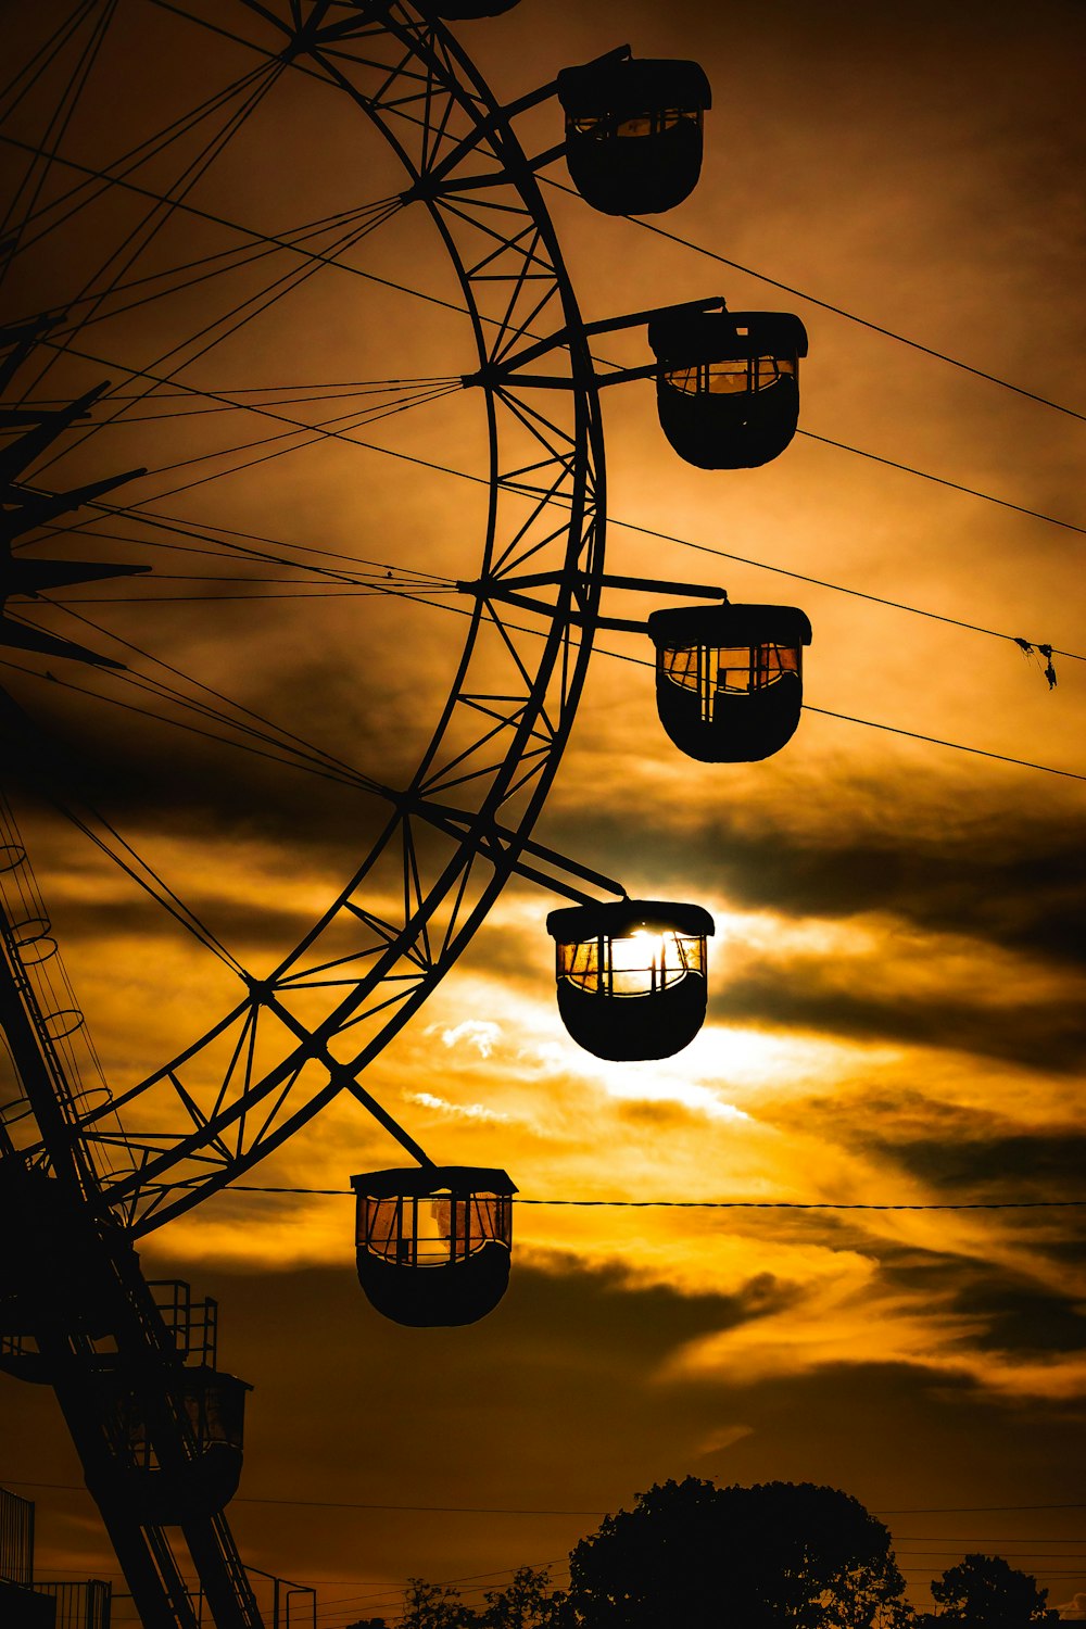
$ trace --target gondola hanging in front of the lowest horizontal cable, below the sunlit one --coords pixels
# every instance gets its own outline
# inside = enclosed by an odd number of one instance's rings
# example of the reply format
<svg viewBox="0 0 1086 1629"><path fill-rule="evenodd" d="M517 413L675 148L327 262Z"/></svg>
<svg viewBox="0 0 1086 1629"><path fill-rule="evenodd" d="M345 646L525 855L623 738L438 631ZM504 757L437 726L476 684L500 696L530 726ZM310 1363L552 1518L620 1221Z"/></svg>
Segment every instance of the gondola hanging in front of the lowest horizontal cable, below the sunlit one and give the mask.
<svg viewBox="0 0 1086 1629"><path fill-rule="evenodd" d="M352 1176L358 1282L394 1323L485 1318L510 1282L513 1194L505 1171L428 1165Z"/></svg>

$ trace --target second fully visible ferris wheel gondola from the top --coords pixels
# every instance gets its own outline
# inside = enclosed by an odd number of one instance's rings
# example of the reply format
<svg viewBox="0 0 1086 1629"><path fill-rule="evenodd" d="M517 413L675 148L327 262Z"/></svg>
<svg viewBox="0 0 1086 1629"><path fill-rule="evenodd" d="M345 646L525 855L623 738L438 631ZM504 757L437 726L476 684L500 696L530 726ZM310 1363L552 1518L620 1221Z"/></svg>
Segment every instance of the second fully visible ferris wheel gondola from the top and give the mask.
<svg viewBox="0 0 1086 1629"><path fill-rule="evenodd" d="M808 334L786 311L674 311L648 324L656 406L676 453L700 469L754 469L791 441Z"/></svg>

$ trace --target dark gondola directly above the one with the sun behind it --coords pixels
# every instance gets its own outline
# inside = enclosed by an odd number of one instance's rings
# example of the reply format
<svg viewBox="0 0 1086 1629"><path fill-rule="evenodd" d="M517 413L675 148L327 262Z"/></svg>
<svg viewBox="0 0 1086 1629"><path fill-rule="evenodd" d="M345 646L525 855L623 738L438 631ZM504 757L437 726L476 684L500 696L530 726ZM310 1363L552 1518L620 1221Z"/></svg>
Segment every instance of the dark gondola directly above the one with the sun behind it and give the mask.
<svg viewBox="0 0 1086 1629"><path fill-rule="evenodd" d="M752 764L791 740L803 707L796 606L681 606L653 611L656 707L676 746L703 764Z"/></svg>

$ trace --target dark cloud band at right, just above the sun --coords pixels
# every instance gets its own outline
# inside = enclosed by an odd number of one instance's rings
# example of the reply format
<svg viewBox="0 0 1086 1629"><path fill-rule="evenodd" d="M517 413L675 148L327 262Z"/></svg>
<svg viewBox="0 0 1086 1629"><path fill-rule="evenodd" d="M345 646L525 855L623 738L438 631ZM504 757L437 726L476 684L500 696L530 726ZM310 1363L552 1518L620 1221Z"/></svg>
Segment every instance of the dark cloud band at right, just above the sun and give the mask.
<svg viewBox="0 0 1086 1629"><path fill-rule="evenodd" d="M944 766L917 780L892 767L865 774L847 761L825 777L819 762L804 754L791 766L755 766L757 779L738 767L741 787L723 806L702 798L676 805L668 775L622 772L640 782L659 875L700 875L733 907L825 919L886 914L1081 964L1076 924L1086 881L1075 797L1057 792L1029 803ZM576 832L581 849L593 842L601 862L611 852L620 865L628 834L607 808L601 790L576 823L560 813L550 828L557 845Z"/></svg>

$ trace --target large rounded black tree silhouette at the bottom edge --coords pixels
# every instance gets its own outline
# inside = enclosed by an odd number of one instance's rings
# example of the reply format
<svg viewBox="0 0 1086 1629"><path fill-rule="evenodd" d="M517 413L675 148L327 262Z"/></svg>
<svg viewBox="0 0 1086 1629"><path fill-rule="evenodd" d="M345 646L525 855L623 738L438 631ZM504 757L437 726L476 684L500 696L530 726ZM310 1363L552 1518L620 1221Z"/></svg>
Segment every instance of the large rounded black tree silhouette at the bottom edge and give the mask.
<svg viewBox="0 0 1086 1629"><path fill-rule="evenodd" d="M848 1494L687 1478L576 1546L568 1600L583 1629L896 1629L904 1588L887 1530Z"/></svg>

